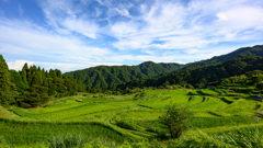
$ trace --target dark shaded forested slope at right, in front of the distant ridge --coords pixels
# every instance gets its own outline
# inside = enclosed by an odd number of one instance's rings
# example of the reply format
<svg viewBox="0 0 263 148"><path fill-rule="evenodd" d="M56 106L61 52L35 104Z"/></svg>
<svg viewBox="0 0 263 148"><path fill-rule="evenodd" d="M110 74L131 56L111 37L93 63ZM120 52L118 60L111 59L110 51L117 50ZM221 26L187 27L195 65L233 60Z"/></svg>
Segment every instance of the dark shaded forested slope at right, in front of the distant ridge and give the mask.
<svg viewBox="0 0 263 148"><path fill-rule="evenodd" d="M218 81L222 78L243 75L248 71L263 70L263 58L259 56L241 56L208 67L201 67L186 70L178 70L158 78L130 81L119 84L117 88L141 88L141 87L165 87L169 84L194 86L204 88L208 82Z"/></svg>

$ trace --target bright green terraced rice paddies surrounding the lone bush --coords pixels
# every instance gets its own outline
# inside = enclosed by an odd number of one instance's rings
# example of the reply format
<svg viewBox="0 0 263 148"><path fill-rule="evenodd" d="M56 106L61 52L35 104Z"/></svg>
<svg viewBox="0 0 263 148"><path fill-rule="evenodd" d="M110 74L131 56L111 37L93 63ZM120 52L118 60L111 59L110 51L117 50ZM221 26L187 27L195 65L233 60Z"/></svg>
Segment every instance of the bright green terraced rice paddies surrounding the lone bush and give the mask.
<svg viewBox="0 0 263 148"><path fill-rule="evenodd" d="M160 135L157 119L171 103L194 113L192 128L184 137L194 137L198 130L218 134L236 127L263 127L258 117L263 102L228 90L148 90L129 95L83 93L36 109L0 109L0 144L2 140L13 146L39 147L58 135L80 133L91 143L108 147L153 139Z"/></svg>

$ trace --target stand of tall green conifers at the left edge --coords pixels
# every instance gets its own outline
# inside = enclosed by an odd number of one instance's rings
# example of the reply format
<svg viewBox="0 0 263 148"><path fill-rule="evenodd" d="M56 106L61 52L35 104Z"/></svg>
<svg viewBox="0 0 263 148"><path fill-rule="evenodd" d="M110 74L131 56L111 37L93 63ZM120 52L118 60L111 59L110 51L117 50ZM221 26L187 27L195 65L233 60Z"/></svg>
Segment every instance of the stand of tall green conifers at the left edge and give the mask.
<svg viewBox="0 0 263 148"><path fill-rule="evenodd" d="M50 96L72 95L79 91L85 91L85 86L58 69L47 71L25 64L21 71L9 70L0 55L0 105L34 107Z"/></svg>

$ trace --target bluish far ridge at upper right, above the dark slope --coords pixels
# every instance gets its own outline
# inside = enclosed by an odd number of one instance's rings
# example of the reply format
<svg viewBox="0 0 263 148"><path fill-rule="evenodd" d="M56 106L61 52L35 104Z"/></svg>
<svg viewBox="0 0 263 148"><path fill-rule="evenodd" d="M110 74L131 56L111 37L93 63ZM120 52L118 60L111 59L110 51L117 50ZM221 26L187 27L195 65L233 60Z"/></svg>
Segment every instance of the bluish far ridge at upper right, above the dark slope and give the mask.
<svg viewBox="0 0 263 148"><path fill-rule="evenodd" d="M191 64L185 65L185 67L182 69L192 69L192 68L198 68L198 67L204 67L204 66L210 66L210 65L224 62L224 61L227 61L229 59L240 57L240 56L261 56L261 57L263 57L263 45L255 45L253 47L243 47L243 48L239 48L239 49L237 49L232 53L226 54L226 55L215 56L210 59L191 62Z"/></svg>

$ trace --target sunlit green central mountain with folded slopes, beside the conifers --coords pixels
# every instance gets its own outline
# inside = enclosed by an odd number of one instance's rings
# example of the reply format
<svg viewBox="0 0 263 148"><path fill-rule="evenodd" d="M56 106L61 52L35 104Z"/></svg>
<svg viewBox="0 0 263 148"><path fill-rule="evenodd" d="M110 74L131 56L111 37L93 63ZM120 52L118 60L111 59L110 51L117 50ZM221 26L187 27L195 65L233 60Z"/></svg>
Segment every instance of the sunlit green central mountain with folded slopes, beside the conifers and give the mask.
<svg viewBox="0 0 263 148"><path fill-rule="evenodd" d="M122 82L142 80L182 68L179 64L155 64L146 61L138 66L98 66L66 73L80 79L92 89L108 88Z"/></svg>

